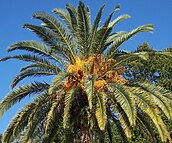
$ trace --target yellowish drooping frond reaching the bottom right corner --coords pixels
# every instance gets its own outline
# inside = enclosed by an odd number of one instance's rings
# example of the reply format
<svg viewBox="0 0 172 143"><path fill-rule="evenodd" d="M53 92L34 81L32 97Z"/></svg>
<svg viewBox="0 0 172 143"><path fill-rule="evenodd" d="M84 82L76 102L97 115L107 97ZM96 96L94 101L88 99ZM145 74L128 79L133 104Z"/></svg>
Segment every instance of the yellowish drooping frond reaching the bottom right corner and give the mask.
<svg viewBox="0 0 172 143"><path fill-rule="evenodd" d="M159 132L161 140L171 140L166 126L160 117L160 112L154 102L151 102L149 94L138 87L133 87L130 90L132 90L132 93L136 98L138 107L152 119Z"/></svg>

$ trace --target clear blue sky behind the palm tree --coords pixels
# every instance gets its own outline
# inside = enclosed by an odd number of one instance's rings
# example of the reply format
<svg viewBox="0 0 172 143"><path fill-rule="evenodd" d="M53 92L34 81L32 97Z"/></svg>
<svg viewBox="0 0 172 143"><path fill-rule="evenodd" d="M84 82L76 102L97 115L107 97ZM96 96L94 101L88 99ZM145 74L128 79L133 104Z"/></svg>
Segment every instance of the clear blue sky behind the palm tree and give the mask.
<svg viewBox="0 0 172 143"><path fill-rule="evenodd" d="M122 49L134 50L139 44L148 42L151 47L157 50L172 45L172 0L83 0L89 5L91 18L94 19L100 6L106 2L103 20L120 4L120 14L129 14L130 19L122 21L116 26L115 31L128 31L144 24L154 24L153 34L141 33L126 42ZM65 3L77 6L78 0L0 0L0 58L9 55L7 47L17 41L38 40L29 30L21 28L25 23L39 24L39 21L31 19L36 11L45 11L50 14L53 8L65 8ZM53 14L54 15L54 14ZM114 16L114 18L115 18ZM10 91L10 81L18 74L21 66L25 63L8 61L0 63L0 100ZM27 82L27 80L25 80ZM11 108L0 119L0 133L7 127L9 121L17 113L21 106L29 101L29 98Z"/></svg>

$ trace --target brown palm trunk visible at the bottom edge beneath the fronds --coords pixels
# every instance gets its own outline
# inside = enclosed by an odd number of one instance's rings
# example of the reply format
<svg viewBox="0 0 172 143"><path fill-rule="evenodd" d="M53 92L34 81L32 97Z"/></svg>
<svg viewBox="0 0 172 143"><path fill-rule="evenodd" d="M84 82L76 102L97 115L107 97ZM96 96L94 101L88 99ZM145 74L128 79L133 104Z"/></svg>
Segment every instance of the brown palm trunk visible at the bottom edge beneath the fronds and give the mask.
<svg viewBox="0 0 172 143"><path fill-rule="evenodd" d="M93 143L93 136L89 129L83 128L81 130L80 143Z"/></svg>

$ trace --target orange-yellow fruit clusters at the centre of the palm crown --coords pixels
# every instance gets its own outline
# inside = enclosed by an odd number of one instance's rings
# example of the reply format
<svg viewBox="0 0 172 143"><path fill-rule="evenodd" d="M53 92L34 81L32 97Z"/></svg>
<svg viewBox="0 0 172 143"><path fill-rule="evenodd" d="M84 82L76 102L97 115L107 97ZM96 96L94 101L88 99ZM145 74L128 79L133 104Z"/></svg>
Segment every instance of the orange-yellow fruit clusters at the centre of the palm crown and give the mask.
<svg viewBox="0 0 172 143"><path fill-rule="evenodd" d="M94 87L98 90L103 90L108 82L125 84L127 80L121 77L125 70L123 67L114 68L115 62L114 59L105 60L101 54L90 56L87 60L77 57L75 64L67 68L71 76L64 82L65 91L69 91L78 84L84 88L84 78L89 75L94 75Z"/></svg>

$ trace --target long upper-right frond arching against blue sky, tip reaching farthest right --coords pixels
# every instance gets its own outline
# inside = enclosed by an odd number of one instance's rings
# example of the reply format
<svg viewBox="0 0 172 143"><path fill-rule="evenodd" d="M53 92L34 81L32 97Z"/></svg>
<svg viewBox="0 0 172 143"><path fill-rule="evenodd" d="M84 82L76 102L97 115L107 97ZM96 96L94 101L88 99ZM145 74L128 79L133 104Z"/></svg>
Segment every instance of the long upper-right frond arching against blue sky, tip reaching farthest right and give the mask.
<svg viewBox="0 0 172 143"><path fill-rule="evenodd" d="M119 38L114 39L114 42L112 43L110 49L107 52L107 57L113 58L119 46L125 41L127 41L128 39L130 39L131 37L135 36L136 34L141 33L141 32L152 32L152 31L153 31L153 25L151 24L143 25L143 26L139 26L133 29L132 31L126 34L123 34Z"/></svg>

